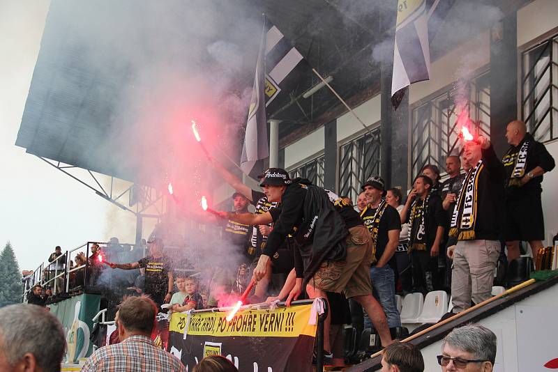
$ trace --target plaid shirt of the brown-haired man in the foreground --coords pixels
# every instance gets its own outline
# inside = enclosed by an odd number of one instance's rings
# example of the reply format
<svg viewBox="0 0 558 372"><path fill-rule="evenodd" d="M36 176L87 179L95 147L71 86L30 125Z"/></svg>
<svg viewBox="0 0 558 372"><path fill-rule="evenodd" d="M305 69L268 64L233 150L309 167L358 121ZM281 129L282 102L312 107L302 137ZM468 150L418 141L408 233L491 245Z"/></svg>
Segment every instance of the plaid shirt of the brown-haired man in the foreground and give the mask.
<svg viewBox="0 0 558 372"><path fill-rule="evenodd" d="M135 335L93 352L83 371L186 372L186 368L174 355L155 346L149 337Z"/></svg>

